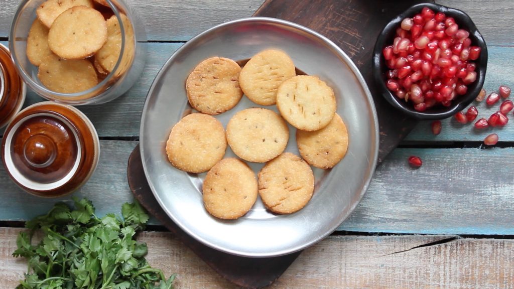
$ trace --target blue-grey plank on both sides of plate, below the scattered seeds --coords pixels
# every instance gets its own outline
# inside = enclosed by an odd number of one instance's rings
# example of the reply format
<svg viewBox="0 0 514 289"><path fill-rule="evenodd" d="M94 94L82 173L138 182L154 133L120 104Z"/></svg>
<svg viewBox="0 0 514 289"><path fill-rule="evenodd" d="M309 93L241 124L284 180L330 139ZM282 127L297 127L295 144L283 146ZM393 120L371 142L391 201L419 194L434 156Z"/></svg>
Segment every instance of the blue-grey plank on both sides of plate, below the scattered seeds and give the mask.
<svg viewBox="0 0 514 289"><path fill-rule="evenodd" d="M90 198L99 215L119 213L123 202L133 200L126 165L135 145L132 141L101 141L98 169L76 193ZM420 156L423 166L411 169L407 164L410 155ZM27 220L48 211L56 201L71 200L71 196L31 196L17 188L0 167L0 221ZM377 168L361 203L338 229L514 234L513 171L514 148L396 149Z"/></svg>

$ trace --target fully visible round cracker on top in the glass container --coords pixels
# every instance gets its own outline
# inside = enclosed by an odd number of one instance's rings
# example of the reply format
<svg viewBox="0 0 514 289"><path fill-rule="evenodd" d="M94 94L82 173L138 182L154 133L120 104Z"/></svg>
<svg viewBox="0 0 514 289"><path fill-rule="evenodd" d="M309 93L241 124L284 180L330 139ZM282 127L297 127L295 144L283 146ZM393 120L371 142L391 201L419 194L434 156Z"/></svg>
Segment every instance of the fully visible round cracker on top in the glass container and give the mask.
<svg viewBox="0 0 514 289"><path fill-rule="evenodd" d="M107 40L107 24L100 12L85 6L64 11L48 32L48 46L64 59L84 59Z"/></svg>

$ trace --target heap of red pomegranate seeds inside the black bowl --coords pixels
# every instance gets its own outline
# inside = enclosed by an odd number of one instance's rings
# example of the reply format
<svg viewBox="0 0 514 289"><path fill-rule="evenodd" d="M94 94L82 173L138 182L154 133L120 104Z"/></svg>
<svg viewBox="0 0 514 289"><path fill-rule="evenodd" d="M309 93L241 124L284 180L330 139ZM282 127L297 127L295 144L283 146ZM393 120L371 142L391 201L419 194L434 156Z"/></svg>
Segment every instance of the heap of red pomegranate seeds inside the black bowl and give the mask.
<svg viewBox="0 0 514 289"><path fill-rule="evenodd" d="M476 64L470 60L478 59L480 51L453 17L425 7L404 19L393 45L383 48L390 69L386 86L398 98L412 101L416 111L439 103L449 106L476 80Z"/></svg>

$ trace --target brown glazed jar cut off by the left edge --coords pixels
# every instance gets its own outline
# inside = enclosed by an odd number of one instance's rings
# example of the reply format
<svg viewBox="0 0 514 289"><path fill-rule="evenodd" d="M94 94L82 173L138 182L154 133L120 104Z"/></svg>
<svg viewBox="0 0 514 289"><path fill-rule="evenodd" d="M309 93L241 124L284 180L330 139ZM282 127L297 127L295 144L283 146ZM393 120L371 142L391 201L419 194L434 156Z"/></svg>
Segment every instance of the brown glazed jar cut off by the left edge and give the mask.
<svg viewBox="0 0 514 289"><path fill-rule="evenodd" d="M21 110L26 91L25 83L16 73L9 49L0 44L0 128Z"/></svg>

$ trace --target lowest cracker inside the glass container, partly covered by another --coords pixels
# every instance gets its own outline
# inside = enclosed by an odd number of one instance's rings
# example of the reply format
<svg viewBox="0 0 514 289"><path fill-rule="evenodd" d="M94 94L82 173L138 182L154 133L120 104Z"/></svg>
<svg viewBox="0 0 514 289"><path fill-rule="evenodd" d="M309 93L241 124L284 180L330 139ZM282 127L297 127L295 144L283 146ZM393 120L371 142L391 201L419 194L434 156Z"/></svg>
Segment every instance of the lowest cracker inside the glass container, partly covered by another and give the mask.
<svg viewBox="0 0 514 289"><path fill-rule="evenodd" d="M95 87L98 77L88 60L64 60L48 56L39 66L38 78L51 91L78 93Z"/></svg>

